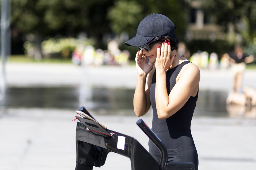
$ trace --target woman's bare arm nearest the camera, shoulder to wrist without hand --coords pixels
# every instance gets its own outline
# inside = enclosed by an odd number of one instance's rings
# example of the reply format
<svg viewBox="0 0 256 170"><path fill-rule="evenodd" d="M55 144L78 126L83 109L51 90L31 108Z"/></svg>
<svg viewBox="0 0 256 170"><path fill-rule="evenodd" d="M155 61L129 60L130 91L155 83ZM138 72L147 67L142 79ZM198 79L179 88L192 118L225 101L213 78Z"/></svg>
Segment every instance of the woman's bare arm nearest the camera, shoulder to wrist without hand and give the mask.
<svg viewBox="0 0 256 170"><path fill-rule="evenodd" d="M185 69L185 70L184 70ZM166 74L158 71L156 76L156 108L160 119L166 119L175 114L197 92L200 80L200 70L193 63L185 65L169 96L166 89ZM194 92L194 93L193 93Z"/></svg>

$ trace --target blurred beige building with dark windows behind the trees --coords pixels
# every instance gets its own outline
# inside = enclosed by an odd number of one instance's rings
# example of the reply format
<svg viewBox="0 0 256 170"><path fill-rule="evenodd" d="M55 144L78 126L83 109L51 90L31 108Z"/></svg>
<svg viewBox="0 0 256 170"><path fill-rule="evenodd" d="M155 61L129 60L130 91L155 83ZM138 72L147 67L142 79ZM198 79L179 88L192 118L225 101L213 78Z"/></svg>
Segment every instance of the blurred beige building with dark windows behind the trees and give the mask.
<svg viewBox="0 0 256 170"><path fill-rule="evenodd" d="M202 10L203 0L187 0L188 4L188 26L186 40L228 40L230 42L242 40L234 31L233 24L226 27L215 24L216 17L206 15ZM227 28L227 32L225 32Z"/></svg>

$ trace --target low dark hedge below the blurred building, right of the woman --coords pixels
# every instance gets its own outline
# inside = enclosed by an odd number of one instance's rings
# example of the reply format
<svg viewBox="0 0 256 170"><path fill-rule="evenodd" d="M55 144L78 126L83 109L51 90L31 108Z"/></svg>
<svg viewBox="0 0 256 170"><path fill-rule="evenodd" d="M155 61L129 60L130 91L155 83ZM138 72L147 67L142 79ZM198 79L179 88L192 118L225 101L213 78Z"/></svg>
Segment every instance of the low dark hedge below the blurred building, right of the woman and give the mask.
<svg viewBox="0 0 256 170"><path fill-rule="evenodd" d="M197 51L206 51L209 54L213 52L217 53L218 59L220 59L224 53L227 53L234 48L233 44L228 43L226 40L193 40L189 42L187 46L191 56Z"/></svg>

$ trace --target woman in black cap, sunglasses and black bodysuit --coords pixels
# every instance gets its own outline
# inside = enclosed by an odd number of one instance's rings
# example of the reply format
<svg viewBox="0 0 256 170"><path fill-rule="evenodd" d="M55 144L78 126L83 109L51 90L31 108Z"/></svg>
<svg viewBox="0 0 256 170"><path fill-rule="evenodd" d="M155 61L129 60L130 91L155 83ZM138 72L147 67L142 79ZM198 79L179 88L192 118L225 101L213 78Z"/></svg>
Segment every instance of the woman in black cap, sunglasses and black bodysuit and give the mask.
<svg viewBox="0 0 256 170"><path fill-rule="evenodd" d="M152 105L152 130L166 146L168 161L190 161L198 169L190 124L198 97L200 71L177 54L178 43L175 25L156 13L144 18L136 36L125 43L140 49L135 59L138 77L133 106L135 114L143 116ZM149 151L159 162L160 152L151 141Z"/></svg>

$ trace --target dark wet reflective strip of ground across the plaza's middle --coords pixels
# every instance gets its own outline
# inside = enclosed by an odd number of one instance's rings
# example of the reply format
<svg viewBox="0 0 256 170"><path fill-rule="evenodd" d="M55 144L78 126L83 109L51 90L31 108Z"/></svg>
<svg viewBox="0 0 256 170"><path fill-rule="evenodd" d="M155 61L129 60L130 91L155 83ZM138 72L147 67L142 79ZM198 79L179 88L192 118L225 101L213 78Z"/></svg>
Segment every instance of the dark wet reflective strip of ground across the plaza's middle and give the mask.
<svg viewBox="0 0 256 170"><path fill-rule="evenodd" d="M88 110L106 115L133 115L134 89L91 88L81 96L79 87L10 87L0 106L7 108L66 108L77 109L81 101ZM256 118L255 108L226 106L228 93L200 90L194 116L229 117L246 113ZM249 113L252 112L252 113ZM253 112L255 114L253 115ZM247 115L248 115L247 114Z"/></svg>

